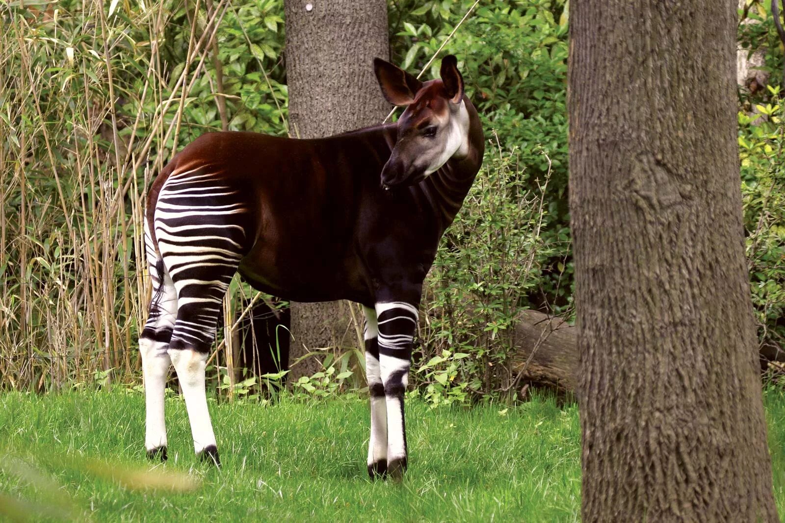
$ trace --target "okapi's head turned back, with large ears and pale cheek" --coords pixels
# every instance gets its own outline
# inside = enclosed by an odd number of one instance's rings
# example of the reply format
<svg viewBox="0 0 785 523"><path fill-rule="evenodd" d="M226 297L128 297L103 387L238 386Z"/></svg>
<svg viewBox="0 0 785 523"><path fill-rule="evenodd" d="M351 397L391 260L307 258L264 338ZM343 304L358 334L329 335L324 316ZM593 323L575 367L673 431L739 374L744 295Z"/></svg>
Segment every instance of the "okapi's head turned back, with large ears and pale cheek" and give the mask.
<svg viewBox="0 0 785 523"><path fill-rule="evenodd" d="M455 56L444 56L440 79L420 82L380 58L374 71L390 104L406 107L398 119L398 139L382 169L382 187L413 185L450 158L469 152L469 112Z"/></svg>

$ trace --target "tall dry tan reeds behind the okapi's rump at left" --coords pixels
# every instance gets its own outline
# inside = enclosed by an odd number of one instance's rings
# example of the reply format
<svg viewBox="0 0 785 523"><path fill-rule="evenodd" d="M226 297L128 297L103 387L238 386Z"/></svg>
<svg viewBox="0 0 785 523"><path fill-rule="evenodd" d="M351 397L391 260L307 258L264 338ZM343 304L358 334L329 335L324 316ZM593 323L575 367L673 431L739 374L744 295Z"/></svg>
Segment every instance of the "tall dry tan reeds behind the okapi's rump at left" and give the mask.
<svg viewBox="0 0 785 523"><path fill-rule="evenodd" d="M0 5L2 389L129 380L139 369L144 193L183 145L184 107L214 67L228 2L186 4L178 74L162 46L182 5L130 3Z"/></svg>

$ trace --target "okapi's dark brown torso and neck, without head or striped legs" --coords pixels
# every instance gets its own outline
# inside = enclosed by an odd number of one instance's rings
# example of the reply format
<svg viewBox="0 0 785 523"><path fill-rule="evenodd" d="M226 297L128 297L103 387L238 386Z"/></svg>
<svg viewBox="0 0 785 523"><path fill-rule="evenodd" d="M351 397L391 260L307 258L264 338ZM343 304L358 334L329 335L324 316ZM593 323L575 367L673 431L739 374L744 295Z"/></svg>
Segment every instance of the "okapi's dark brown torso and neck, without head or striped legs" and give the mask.
<svg viewBox="0 0 785 523"><path fill-rule="evenodd" d="M148 194L148 220L170 173L203 166L197 173L214 173L246 198L239 271L255 288L302 302L345 299L372 307L411 296L418 303L440 237L482 161L480 121L464 101L471 154L413 186L381 187L396 124L319 140L208 133L159 174Z"/></svg>

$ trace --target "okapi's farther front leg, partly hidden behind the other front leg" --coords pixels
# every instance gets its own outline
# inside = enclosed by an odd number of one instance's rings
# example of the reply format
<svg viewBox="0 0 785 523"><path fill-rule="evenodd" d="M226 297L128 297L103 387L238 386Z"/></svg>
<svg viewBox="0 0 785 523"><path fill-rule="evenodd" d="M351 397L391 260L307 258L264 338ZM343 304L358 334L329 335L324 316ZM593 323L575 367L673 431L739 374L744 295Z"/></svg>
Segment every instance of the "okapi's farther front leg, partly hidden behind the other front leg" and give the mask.
<svg viewBox="0 0 785 523"><path fill-rule="evenodd" d="M371 439L368 441L368 475L371 479L387 474L387 404L385 386L379 368L378 326L376 311L363 307L365 313L365 372L371 395Z"/></svg>

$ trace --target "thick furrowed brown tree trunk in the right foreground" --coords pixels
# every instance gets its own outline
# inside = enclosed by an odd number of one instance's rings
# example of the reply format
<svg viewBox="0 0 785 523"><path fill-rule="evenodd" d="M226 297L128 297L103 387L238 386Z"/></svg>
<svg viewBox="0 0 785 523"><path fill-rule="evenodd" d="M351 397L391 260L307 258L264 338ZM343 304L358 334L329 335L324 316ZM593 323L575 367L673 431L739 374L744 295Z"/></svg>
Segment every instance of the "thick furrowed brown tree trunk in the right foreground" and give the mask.
<svg viewBox="0 0 785 523"><path fill-rule="evenodd" d="M577 0L582 520L778 521L744 260L736 2Z"/></svg>

